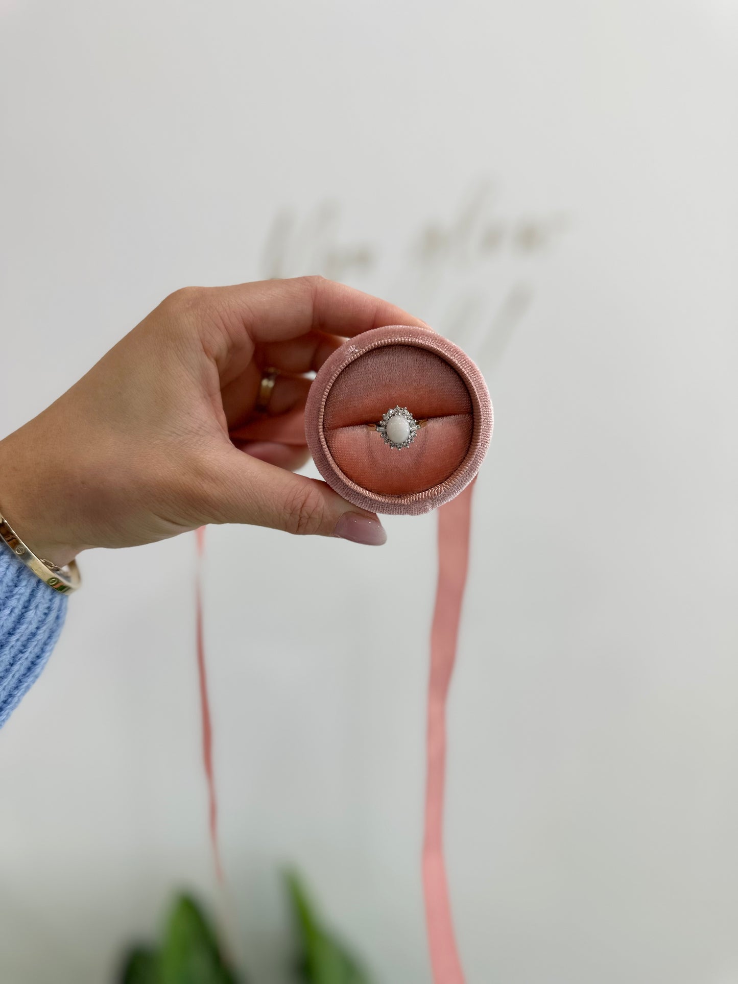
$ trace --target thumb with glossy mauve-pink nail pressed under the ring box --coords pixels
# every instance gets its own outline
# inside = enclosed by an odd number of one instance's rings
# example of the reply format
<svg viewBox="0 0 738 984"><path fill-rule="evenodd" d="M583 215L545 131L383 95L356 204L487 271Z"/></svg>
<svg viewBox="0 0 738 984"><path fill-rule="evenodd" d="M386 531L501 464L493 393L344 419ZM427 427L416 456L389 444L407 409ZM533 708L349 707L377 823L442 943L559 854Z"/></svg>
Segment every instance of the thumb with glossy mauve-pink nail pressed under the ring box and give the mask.
<svg viewBox="0 0 738 984"><path fill-rule="evenodd" d="M250 523L372 546L387 540L374 513L352 506L325 482L251 458L232 445L218 457L215 475L210 523Z"/></svg>

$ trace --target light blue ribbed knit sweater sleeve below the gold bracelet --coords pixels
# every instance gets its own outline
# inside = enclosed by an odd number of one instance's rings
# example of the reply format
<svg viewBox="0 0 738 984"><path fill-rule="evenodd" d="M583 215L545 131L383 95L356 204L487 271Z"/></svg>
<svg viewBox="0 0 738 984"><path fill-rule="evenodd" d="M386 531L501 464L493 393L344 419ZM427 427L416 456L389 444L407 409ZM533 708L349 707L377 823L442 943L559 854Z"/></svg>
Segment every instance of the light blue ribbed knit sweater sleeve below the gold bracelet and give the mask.
<svg viewBox="0 0 738 984"><path fill-rule="evenodd" d="M67 600L39 581L0 540L0 727L56 645Z"/></svg>

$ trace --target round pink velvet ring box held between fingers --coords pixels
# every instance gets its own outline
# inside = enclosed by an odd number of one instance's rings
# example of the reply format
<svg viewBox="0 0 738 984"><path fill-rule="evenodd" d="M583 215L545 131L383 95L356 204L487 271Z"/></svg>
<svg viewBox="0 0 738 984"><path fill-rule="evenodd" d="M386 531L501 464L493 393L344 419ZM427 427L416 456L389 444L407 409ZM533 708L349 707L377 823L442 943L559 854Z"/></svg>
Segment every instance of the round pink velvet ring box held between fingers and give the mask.
<svg viewBox="0 0 738 984"><path fill-rule="evenodd" d="M422 421L407 447L393 447L376 430L396 406ZM430 329L390 325L349 338L323 364L305 433L318 470L348 502L417 515L474 478L492 437L492 403L458 345Z"/></svg>

